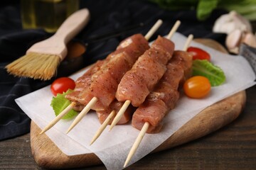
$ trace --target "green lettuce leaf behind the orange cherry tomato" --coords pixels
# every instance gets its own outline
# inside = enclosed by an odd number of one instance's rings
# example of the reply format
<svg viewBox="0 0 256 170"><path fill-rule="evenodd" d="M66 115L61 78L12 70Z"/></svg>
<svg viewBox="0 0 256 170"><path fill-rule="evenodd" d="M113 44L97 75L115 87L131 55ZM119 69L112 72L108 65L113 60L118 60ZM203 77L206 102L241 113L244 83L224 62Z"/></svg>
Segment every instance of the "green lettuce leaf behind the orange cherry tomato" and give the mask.
<svg viewBox="0 0 256 170"><path fill-rule="evenodd" d="M220 67L208 60L193 60L193 76L207 77L211 86L219 86L225 82L225 74Z"/></svg>

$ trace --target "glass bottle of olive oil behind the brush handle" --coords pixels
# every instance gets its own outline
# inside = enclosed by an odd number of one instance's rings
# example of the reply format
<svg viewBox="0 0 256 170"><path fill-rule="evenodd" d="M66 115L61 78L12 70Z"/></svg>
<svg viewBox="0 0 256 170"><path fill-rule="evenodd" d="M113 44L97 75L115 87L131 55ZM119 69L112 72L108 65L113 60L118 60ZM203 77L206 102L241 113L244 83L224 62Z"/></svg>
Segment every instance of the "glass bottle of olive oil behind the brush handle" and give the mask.
<svg viewBox="0 0 256 170"><path fill-rule="evenodd" d="M55 33L65 18L78 9L78 0L21 0L22 26Z"/></svg>

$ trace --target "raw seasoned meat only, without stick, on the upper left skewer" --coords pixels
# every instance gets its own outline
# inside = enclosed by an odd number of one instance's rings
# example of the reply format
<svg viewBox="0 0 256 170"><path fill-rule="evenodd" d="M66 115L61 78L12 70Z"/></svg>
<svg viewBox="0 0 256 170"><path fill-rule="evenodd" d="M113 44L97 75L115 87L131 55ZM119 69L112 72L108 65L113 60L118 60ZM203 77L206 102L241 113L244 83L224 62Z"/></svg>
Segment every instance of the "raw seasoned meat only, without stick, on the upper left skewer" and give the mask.
<svg viewBox="0 0 256 170"><path fill-rule="evenodd" d="M95 111L110 106L124 73L132 68L137 58L148 48L148 42L141 34L132 35L122 41L117 50L108 55L107 63L92 74L90 87L85 86L75 98L75 101L86 106L93 97L96 97L98 101L95 106L92 106Z"/></svg>

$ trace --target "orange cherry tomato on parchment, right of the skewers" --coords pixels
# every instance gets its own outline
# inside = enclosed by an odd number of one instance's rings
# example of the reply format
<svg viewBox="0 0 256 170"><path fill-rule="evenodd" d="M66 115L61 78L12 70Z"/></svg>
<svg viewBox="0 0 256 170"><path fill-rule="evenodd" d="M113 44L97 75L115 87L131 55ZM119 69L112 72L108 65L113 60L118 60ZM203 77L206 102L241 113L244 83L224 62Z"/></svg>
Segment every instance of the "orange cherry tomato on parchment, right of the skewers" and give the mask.
<svg viewBox="0 0 256 170"><path fill-rule="evenodd" d="M191 77L183 84L183 90L190 98L203 98L210 93L210 81L202 76Z"/></svg>

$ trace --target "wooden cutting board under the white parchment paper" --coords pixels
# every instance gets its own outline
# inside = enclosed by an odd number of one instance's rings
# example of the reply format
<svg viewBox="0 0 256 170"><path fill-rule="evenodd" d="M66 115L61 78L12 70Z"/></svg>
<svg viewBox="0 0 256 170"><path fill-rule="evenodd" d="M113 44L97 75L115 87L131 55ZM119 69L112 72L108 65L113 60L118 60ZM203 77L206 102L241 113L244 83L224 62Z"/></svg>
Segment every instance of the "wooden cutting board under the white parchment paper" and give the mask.
<svg viewBox="0 0 256 170"><path fill-rule="evenodd" d="M225 48L214 40L196 39L196 41L221 52L226 52ZM210 132L214 132L228 123L231 123L235 118L238 118L238 115L242 112L245 101L245 91L240 91L238 94L209 106L183 125L174 135L171 135L168 140L154 149L154 152L196 140L199 137L208 135ZM95 154L80 154L75 156L63 154L46 134L39 135L40 132L41 129L32 121L31 151L39 166L47 169L67 169L102 164Z"/></svg>

